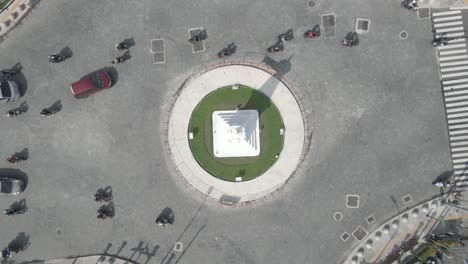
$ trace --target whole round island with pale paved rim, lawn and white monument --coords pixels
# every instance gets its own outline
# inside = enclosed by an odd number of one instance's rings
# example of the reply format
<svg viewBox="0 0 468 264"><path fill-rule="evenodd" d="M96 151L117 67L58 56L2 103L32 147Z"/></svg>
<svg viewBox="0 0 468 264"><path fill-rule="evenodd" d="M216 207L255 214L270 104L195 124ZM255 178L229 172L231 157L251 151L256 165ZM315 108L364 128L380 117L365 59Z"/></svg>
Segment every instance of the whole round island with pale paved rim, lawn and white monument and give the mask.
<svg viewBox="0 0 468 264"><path fill-rule="evenodd" d="M251 65L218 65L184 83L172 107L167 145L185 186L239 205L264 198L294 174L308 147L305 125L294 95L277 77ZM246 110L258 117L242 117ZM218 130L214 122L221 123ZM224 143L216 147L220 133ZM247 148L235 154L240 146Z"/></svg>

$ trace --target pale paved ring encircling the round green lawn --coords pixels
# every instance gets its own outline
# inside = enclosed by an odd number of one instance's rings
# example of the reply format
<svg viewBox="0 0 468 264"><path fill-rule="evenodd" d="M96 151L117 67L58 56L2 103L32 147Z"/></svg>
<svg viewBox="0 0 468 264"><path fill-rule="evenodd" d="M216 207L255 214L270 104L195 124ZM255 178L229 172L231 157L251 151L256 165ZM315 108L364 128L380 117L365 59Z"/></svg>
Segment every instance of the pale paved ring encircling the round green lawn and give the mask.
<svg viewBox="0 0 468 264"><path fill-rule="evenodd" d="M284 119L285 146L275 164L262 176L236 183L216 179L204 171L193 158L188 144L188 113L209 92L237 83L259 89L275 103ZM286 112L290 113L287 120L284 118ZM300 165L306 142L302 111L290 88L271 73L248 64L206 69L186 81L173 105L167 135L172 161L186 182L221 203L234 204L261 199L280 188ZM295 146L300 146L300 149L294 148Z"/></svg>

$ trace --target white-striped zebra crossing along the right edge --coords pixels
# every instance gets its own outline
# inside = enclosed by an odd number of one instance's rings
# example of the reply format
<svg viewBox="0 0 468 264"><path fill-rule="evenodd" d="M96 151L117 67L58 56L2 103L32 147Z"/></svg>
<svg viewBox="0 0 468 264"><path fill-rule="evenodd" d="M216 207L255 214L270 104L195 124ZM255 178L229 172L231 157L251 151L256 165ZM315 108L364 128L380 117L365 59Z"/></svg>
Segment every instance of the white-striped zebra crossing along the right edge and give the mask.
<svg viewBox="0 0 468 264"><path fill-rule="evenodd" d="M438 46L450 151L457 189L468 190L468 51L461 10L432 13L436 37L446 34L448 45Z"/></svg>

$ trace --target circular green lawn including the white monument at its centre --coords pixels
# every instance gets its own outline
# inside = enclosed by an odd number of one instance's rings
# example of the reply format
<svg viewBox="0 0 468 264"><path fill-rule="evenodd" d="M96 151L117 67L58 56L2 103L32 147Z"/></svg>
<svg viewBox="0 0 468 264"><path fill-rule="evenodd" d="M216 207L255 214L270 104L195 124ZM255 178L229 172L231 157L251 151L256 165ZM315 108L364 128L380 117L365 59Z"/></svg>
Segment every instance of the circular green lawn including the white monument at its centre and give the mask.
<svg viewBox="0 0 468 264"><path fill-rule="evenodd" d="M192 113L188 133L198 164L225 181L260 176L283 149L278 108L262 92L243 85L219 88L203 98Z"/></svg>

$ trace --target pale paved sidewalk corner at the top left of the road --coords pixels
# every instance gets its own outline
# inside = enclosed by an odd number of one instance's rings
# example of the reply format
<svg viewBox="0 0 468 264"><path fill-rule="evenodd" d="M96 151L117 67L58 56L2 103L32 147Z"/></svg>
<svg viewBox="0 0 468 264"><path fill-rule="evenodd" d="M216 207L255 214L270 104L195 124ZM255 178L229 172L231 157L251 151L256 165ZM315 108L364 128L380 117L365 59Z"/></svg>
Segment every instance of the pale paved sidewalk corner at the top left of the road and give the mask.
<svg viewBox="0 0 468 264"><path fill-rule="evenodd" d="M13 30L39 0L13 0L0 13L0 37Z"/></svg>

